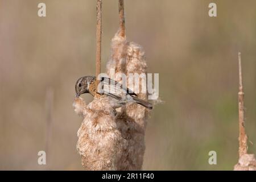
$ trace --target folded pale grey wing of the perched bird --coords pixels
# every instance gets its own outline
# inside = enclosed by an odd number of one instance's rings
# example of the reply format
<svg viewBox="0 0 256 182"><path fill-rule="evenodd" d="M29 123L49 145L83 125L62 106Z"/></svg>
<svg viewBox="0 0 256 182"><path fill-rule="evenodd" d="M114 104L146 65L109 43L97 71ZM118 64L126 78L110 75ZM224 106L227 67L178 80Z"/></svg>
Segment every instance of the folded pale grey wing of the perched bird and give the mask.
<svg viewBox="0 0 256 182"><path fill-rule="evenodd" d="M108 90L109 90L109 93L112 93L112 94L115 94L115 93L119 94L120 92L122 92L122 93L130 94L131 96L137 96L137 94L135 94L133 92L133 90L130 90L129 88L126 88L125 86L123 86L119 82L117 82L115 80L112 80L108 77L101 77L101 83L104 84L104 87L105 87L104 90L106 92L108 92Z"/></svg>

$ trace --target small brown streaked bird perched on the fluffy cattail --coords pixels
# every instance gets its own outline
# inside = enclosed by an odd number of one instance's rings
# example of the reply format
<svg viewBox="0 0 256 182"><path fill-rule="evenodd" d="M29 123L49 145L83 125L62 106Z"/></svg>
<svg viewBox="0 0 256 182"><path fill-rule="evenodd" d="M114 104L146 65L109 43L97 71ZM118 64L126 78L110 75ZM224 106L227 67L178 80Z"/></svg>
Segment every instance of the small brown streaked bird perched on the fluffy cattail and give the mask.
<svg viewBox="0 0 256 182"><path fill-rule="evenodd" d="M95 76L84 76L79 78L75 86L76 97L79 97L84 93L90 93L92 96L95 96L96 93L105 94L106 96L120 101L119 104L121 105L126 104L127 102L135 102L148 109L153 109L153 106L149 102L137 98L137 94L129 88L122 86L122 84L119 84L117 81L107 77L101 77L99 84L101 84L101 89L97 91Z"/></svg>

